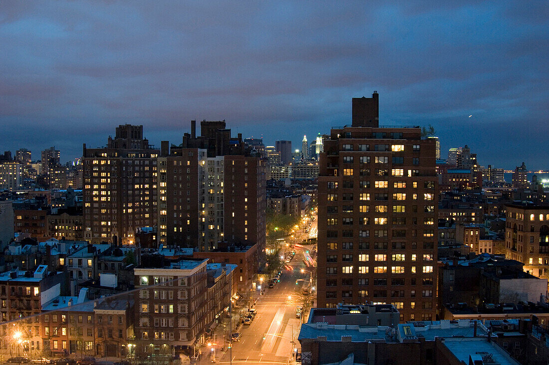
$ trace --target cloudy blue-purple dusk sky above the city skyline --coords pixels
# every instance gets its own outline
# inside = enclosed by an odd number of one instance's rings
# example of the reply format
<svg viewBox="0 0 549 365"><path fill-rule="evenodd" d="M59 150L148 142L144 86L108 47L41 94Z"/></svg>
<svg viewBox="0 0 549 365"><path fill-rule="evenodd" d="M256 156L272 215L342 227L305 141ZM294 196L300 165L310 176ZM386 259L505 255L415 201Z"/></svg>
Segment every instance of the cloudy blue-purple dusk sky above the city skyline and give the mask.
<svg viewBox="0 0 549 365"><path fill-rule="evenodd" d="M300 148L377 91L443 158L547 170L547 59L546 1L3 0L0 150L68 161L125 123L179 144L193 119Z"/></svg>

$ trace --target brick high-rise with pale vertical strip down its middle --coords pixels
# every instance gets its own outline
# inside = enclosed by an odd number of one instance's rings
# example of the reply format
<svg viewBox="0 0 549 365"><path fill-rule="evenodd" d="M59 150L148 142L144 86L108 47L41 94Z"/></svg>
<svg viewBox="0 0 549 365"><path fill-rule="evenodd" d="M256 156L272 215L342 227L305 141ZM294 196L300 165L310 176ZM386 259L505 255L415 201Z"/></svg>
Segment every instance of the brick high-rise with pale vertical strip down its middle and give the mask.
<svg viewBox="0 0 549 365"><path fill-rule="evenodd" d="M212 251L220 242L265 247L265 162L224 121L200 123L159 158L160 244Z"/></svg>

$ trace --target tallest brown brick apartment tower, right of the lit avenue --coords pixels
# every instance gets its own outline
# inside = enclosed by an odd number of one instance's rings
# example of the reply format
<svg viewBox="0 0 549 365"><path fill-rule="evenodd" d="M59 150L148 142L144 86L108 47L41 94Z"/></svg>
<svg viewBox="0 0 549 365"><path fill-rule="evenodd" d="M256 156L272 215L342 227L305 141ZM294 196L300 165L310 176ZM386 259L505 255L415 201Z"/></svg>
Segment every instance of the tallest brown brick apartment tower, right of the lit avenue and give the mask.
<svg viewBox="0 0 549 365"><path fill-rule="evenodd" d="M379 127L378 94L352 99L352 126L324 141L318 177L318 306L393 304L401 321L434 319L435 141Z"/></svg>

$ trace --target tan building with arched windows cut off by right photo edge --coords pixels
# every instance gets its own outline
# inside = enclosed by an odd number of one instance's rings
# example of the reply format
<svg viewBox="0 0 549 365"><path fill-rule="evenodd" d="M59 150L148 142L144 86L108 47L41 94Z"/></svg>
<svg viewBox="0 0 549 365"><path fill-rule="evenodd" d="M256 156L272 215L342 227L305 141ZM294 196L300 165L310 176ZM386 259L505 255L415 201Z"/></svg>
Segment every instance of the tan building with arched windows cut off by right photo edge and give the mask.
<svg viewBox="0 0 549 365"><path fill-rule="evenodd" d="M524 263L524 271L549 278L549 206L506 204L505 257Z"/></svg>

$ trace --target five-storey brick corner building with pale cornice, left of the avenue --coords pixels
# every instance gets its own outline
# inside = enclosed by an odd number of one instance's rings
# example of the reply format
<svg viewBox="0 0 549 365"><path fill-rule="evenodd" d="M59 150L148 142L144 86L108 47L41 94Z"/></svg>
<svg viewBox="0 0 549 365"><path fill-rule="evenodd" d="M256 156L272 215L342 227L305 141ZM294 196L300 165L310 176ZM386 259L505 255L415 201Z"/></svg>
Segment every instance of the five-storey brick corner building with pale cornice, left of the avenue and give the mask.
<svg viewBox="0 0 549 365"><path fill-rule="evenodd" d="M189 355L203 342L208 322L208 259L143 259L135 269L135 345L137 357ZM147 265L148 263L154 263Z"/></svg>

